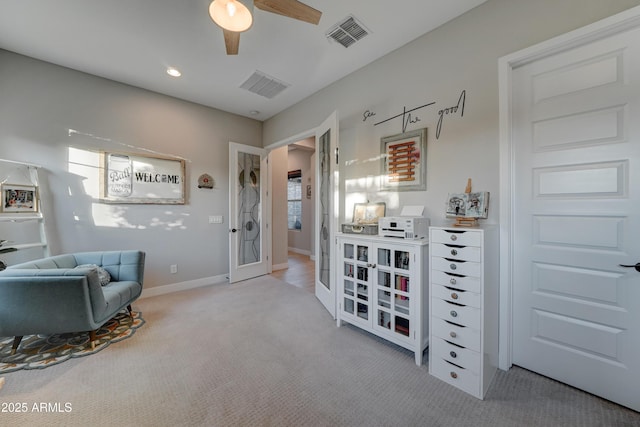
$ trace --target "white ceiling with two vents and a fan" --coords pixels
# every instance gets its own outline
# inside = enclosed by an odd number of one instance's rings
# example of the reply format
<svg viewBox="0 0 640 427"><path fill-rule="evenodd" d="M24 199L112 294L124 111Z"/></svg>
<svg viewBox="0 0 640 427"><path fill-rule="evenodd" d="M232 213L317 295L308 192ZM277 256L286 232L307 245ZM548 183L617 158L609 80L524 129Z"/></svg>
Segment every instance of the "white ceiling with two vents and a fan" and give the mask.
<svg viewBox="0 0 640 427"><path fill-rule="evenodd" d="M0 48L266 120L486 0L302 0L323 12L317 26L254 9L237 56L210 1L1 0ZM346 49L325 33L348 15L370 34ZM273 99L240 89L256 70L291 86Z"/></svg>

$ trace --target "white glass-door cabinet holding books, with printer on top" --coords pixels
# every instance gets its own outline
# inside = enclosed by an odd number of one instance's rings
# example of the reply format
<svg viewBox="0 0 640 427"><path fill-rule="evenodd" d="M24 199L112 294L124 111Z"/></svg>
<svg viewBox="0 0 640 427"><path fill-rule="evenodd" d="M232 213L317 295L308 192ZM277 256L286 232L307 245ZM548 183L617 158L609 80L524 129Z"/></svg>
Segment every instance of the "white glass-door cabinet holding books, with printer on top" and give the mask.
<svg viewBox="0 0 640 427"><path fill-rule="evenodd" d="M427 348L428 243L338 235L337 324L350 323L415 353Z"/></svg>

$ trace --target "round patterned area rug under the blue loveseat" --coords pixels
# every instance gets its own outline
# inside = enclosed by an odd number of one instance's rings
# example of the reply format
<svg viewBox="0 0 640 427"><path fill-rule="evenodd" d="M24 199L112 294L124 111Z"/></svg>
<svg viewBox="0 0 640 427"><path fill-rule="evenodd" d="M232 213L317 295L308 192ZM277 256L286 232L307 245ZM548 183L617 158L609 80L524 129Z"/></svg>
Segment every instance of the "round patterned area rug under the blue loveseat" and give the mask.
<svg viewBox="0 0 640 427"><path fill-rule="evenodd" d="M16 354L11 355L13 337L0 337L0 375L20 369L44 369L72 357L83 357L104 350L109 344L132 336L144 325L142 313L118 313L96 333L96 347L91 350L89 332L55 335L27 335L22 339Z"/></svg>

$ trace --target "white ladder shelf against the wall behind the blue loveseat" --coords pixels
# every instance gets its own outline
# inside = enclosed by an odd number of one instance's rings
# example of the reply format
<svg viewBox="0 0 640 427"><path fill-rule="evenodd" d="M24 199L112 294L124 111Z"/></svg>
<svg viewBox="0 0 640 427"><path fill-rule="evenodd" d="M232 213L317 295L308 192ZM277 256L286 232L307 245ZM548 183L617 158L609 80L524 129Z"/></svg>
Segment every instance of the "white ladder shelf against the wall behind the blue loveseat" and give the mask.
<svg viewBox="0 0 640 427"><path fill-rule="evenodd" d="M38 165L0 159L0 190L7 184L35 186L37 212L5 212L4 191L0 201L0 240L7 242L0 249L15 249L0 253L0 259L6 264L16 264L50 255L47 244L45 217L42 214Z"/></svg>

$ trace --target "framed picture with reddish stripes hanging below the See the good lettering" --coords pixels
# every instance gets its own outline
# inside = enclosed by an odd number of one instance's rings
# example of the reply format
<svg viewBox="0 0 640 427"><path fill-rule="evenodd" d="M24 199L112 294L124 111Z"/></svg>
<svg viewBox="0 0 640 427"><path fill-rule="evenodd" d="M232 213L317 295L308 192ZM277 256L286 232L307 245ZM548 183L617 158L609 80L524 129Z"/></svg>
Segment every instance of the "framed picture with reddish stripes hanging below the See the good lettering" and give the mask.
<svg viewBox="0 0 640 427"><path fill-rule="evenodd" d="M382 190L427 189L427 128L381 138Z"/></svg>

